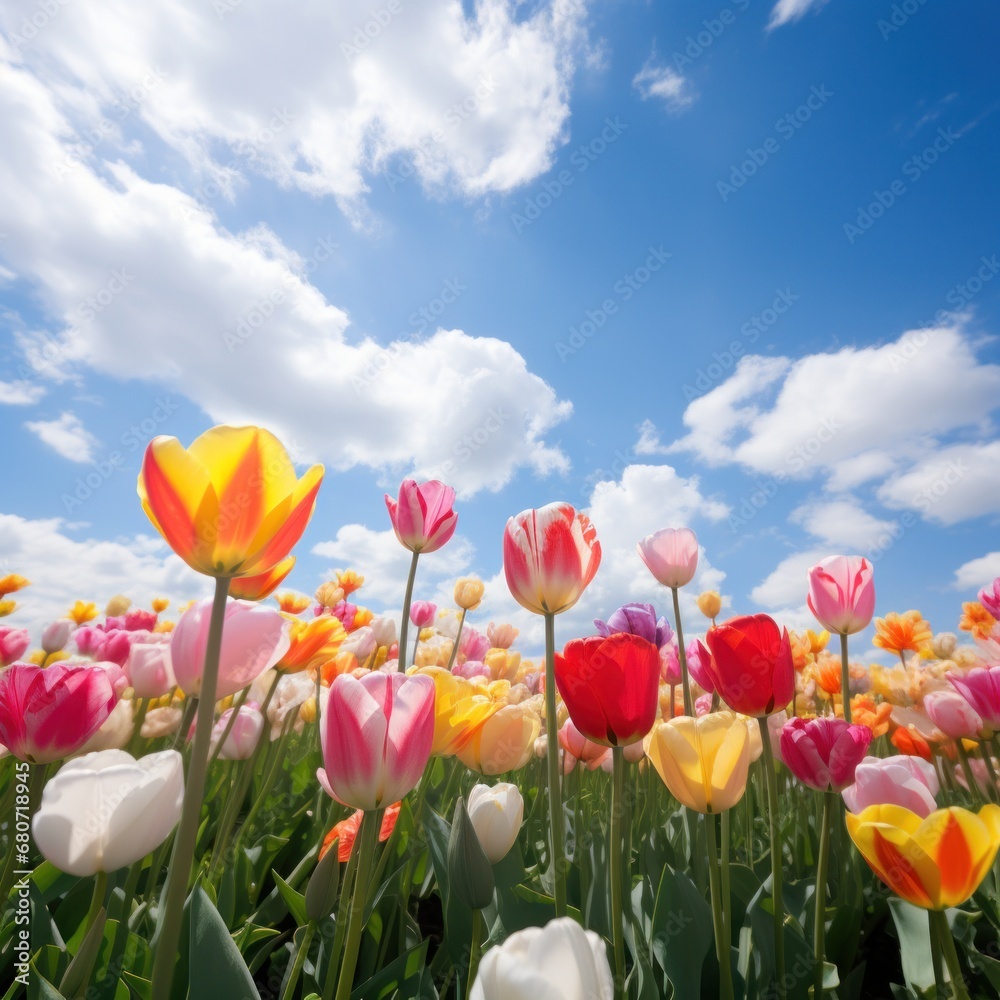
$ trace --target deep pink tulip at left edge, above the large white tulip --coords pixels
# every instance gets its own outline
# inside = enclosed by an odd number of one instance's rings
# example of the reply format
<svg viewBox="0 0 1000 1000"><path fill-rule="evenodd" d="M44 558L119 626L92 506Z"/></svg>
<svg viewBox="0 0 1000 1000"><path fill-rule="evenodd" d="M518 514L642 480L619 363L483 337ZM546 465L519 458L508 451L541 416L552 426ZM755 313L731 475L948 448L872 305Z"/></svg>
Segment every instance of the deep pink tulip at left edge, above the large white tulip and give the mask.
<svg viewBox="0 0 1000 1000"><path fill-rule="evenodd" d="M60 760L101 728L116 701L99 666L15 663L0 672L0 743L32 764Z"/></svg>

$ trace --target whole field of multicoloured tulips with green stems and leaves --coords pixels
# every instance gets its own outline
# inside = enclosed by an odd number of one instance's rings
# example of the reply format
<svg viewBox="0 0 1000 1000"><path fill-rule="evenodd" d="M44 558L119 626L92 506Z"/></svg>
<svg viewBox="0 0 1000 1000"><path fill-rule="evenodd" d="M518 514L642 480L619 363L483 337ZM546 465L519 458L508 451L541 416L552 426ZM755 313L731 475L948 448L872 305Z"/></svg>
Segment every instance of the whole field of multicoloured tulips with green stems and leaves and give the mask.
<svg viewBox="0 0 1000 1000"><path fill-rule="evenodd" d="M385 497L399 618L364 566L282 590L323 478L256 427L157 437L138 502L214 597L32 634L0 578L3 1000L1000 996L1000 580L937 631L830 554L813 629L682 618L664 526L660 606L566 634L599 528L550 503L497 526L529 657L482 581L414 599L437 481Z"/></svg>

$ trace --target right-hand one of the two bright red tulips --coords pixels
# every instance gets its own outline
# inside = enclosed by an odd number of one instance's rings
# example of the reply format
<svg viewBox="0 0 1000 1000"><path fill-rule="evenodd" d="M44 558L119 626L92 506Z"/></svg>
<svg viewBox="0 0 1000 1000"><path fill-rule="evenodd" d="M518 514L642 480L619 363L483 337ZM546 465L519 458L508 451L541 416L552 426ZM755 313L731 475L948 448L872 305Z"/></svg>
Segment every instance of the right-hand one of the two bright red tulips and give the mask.
<svg viewBox="0 0 1000 1000"><path fill-rule="evenodd" d="M722 700L743 715L780 712L795 691L788 629L769 615L743 615L714 626L706 636L711 671Z"/></svg>

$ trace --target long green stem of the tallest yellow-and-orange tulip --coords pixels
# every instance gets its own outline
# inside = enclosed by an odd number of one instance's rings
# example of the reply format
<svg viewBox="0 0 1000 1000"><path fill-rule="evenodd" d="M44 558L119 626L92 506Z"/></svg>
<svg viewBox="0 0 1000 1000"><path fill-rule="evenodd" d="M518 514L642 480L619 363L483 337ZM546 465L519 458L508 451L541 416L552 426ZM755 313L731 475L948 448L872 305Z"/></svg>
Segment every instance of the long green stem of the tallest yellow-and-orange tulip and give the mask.
<svg viewBox="0 0 1000 1000"><path fill-rule="evenodd" d="M205 666L202 671L199 697L198 721L195 724L194 747L188 767L187 783L184 790L184 806L180 825L174 839L174 850L167 872L167 884L163 891L165 903L162 913L156 957L153 959L152 1000L169 1000L174 978L174 964L177 961L181 937L181 922L184 915L184 900L187 897L188 878L194 861L195 840L201 817L202 798L205 794L205 777L208 773L208 750L215 724L215 692L219 679L219 654L222 650L222 626L226 617L226 597L229 594L229 577L219 577L215 581L215 599L212 603L212 617L208 630L208 644L205 650ZM180 734L183 739L183 732Z"/></svg>

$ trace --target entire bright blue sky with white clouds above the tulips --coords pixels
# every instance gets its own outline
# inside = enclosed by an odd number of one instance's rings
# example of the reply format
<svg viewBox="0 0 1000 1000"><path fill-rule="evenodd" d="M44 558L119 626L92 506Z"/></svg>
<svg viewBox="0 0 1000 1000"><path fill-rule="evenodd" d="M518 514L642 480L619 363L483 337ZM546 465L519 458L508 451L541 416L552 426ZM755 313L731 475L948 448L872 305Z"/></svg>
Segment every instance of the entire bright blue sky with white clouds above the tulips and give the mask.
<svg viewBox="0 0 1000 1000"><path fill-rule="evenodd" d="M605 547L567 637L662 603L634 542L681 524L692 596L804 626L805 568L860 552L879 613L954 629L1000 575L1000 12L336 6L5 5L21 619L200 592L139 507L142 447L253 421L328 467L307 593L351 565L398 607L382 494L437 475L459 535L420 596L476 572L529 648L500 537L555 499Z"/></svg>

